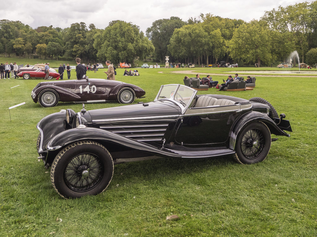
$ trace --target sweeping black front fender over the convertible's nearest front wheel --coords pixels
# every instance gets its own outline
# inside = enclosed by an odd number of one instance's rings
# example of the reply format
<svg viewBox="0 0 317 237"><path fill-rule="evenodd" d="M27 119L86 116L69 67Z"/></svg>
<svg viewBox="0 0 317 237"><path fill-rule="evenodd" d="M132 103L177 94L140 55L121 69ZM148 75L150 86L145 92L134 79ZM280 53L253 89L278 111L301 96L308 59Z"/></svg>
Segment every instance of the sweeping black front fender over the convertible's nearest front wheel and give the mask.
<svg viewBox="0 0 317 237"><path fill-rule="evenodd" d="M78 141L95 141L102 144L116 144L130 149L140 150L158 156L178 157L177 155L158 149L149 144L120 136L99 128L74 128L63 131L53 137L47 144L48 151L59 151L67 145ZM106 146L107 148L107 146ZM181 155L179 155L181 157Z"/></svg>

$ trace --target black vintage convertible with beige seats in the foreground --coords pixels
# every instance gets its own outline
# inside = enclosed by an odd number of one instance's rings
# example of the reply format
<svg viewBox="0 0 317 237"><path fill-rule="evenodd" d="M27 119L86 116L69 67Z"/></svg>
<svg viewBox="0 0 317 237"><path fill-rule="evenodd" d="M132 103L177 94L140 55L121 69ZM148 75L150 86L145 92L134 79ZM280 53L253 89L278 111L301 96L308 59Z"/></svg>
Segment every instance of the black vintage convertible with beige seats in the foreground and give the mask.
<svg viewBox="0 0 317 237"><path fill-rule="evenodd" d="M263 161L271 134L292 131L268 101L196 95L179 84L161 86L152 102L74 112L61 110L37 125L39 159L51 166L64 198L96 195L113 176L113 164L157 156L195 159L232 154L243 164Z"/></svg>

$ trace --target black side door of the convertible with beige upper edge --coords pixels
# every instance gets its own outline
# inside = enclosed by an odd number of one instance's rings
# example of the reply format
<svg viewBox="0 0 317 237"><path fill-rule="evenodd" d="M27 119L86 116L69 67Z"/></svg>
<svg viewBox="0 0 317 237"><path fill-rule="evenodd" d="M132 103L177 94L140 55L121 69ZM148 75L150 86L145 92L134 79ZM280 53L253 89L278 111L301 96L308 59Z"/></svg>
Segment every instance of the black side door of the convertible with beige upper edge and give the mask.
<svg viewBox="0 0 317 237"><path fill-rule="evenodd" d="M225 143L239 111L239 104L189 108L178 126L175 141L198 147Z"/></svg>

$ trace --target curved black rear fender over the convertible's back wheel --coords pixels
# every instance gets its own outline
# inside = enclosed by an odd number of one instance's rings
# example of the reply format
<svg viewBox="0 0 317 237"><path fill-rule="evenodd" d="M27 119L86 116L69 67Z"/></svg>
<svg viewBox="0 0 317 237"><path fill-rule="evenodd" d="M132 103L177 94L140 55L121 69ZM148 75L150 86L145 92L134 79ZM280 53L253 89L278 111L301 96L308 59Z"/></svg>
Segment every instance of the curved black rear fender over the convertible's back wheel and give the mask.
<svg viewBox="0 0 317 237"><path fill-rule="evenodd" d="M289 134L281 130L275 122L269 118L266 114L256 112L256 111L251 111L245 115L243 115L239 121L233 125L233 128L230 132L230 144L229 147L230 149L235 149L236 146L236 138L239 132L247 125L253 123L253 122L263 122L265 125L268 126L268 129L270 130L271 134L275 134L277 136L286 136L290 137Z"/></svg>

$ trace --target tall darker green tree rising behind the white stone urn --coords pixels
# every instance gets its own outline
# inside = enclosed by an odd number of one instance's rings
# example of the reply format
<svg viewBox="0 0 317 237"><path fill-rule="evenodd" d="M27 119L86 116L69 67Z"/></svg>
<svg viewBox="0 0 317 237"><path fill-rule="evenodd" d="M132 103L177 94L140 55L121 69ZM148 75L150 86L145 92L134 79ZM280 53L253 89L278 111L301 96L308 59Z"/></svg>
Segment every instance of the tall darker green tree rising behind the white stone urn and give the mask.
<svg viewBox="0 0 317 237"><path fill-rule="evenodd" d="M146 29L146 36L152 41L155 47L155 57L159 61L164 61L165 56L168 56L167 45L175 29L184 26L186 22L179 17L172 16L170 19L159 19L152 23L152 26Z"/></svg>

